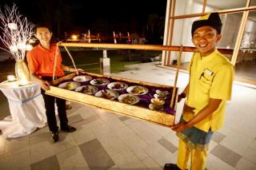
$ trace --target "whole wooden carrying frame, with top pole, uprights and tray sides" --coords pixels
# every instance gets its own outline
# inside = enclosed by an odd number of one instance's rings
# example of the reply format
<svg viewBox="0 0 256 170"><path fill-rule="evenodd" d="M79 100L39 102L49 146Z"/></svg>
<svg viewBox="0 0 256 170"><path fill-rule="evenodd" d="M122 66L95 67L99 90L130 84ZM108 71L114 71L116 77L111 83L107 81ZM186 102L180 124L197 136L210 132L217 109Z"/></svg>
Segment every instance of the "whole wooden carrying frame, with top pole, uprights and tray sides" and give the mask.
<svg viewBox="0 0 256 170"><path fill-rule="evenodd" d="M182 56L182 46L181 47L173 47L173 46L163 46L163 45L121 45L121 44L62 43L62 42L59 42L58 45L64 46L65 49L66 49L66 46L76 46L76 47L110 48L110 49L117 48L117 49L148 49L148 50L179 51L178 66L177 66L177 72L176 72L175 81L174 81L174 87L167 86L167 85L158 85L158 84L153 84L153 83L149 83L149 82L134 81L134 80L121 78L121 77L103 76L101 74L86 73L86 74L94 76L94 77L106 77L106 78L109 77L116 81L128 81L130 83L136 83L138 85L147 85L147 86L152 86L154 88L170 89L173 92L170 95L171 96L170 97L170 108L174 109L174 111L176 110L177 101L178 101L178 88L176 85L177 85L177 80L178 80L178 71L179 71L180 60L181 60L181 56ZM67 50L67 52L70 55L68 50ZM57 57L55 56L54 67L56 66L56 58ZM70 58L74 64L74 60L71 55L70 55ZM75 65L74 65L74 68L76 69ZM157 123L157 124L163 125L163 126L174 125L175 113L174 113L174 115L171 115L168 113L163 113L163 112L159 112L159 111L155 111L155 110L142 108L137 105L128 105L128 104L118 102L118 101L110 101L105 98L95 97L95 96L88 95L85 93L78 93L75 91L70 91L68 89L61 89L61 88L54 86L54 85L57 85L61 81L72 79L73 77L75 77L75 75L76 75L76 73L71 73L65 77L58 79L58 80L54 80L53 85L50 86L50 90L46 91L46 94L54 96L54 97L63 98L63 99L69 100L69 101L78 102L83 105L93 105L98 108L111 110L114 113L123 114L123 115L129 116L129 117L136 117L136 118L139 118L142 120L152 121L154 123Z"/></svg>

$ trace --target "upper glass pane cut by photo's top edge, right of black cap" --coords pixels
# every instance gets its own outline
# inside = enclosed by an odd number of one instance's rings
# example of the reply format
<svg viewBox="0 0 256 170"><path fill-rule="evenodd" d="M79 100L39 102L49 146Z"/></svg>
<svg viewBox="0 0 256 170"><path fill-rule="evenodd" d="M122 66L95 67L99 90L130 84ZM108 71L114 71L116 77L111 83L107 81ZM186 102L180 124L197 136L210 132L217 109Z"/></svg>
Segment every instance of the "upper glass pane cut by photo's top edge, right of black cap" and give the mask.
<svg viewBox="0 0 256 170"><path fill-rule="evenodd" d="M245 1L234 1L234 0L225 0L225 1L216 1L216 0L207 0L206 12L212 11L212 9L216 10L227 10L233 8L241 8L246 6Z"/></svg>

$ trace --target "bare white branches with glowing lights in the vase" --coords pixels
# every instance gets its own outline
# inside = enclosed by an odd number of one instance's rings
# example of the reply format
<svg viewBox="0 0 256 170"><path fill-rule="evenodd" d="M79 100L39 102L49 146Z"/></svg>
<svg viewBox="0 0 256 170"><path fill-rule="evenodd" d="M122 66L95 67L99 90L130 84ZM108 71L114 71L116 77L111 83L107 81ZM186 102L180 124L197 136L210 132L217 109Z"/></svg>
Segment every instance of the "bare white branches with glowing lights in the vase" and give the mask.
<svg viewBox="0 0 256 170"><path fill-rule="evenodd" d="M34 24L19 14L15 4L12 8L5 6L4 11L0 9L0 22L0 40L6 46L0 48L10 52L16 61L24 60L26 50L33 48L28 42L34 34Z"/></svg>

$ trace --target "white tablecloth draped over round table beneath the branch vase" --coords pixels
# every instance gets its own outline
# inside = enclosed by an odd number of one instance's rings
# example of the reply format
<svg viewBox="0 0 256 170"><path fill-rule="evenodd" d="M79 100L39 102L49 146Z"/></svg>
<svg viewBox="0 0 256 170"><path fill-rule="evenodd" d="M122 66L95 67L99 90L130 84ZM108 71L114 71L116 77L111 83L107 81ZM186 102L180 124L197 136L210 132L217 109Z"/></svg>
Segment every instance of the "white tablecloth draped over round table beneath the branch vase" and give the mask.
<svg viewBox="0 0 256 170"><path fill-rule="evenodd" d="M18 86L18 81L5 81L0 84L0 89L8 99L11 114L0 121L3 135L26 136L46 125L46 112L39 84L30 82L30 85Z"/></svg>

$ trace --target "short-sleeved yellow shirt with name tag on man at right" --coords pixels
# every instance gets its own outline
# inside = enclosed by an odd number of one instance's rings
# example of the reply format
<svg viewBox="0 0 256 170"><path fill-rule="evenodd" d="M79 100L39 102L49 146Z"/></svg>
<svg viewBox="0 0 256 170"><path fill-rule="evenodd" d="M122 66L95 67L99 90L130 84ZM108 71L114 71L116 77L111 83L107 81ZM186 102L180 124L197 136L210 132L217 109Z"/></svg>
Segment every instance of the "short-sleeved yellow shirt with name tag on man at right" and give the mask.
<svg viewBox="0 0 256 170"><path fill-rule="evenodd" d="M182 113L185 121L190 121L206 105L210 98L221 99L218 109L194 127L208 132L222 128L226 101L231 98L234 67L217 49L206 57L194 53L190 62L190 83L186 105L195 108L194 113Z"/></svg>

